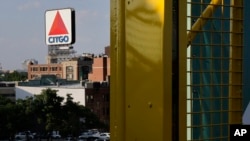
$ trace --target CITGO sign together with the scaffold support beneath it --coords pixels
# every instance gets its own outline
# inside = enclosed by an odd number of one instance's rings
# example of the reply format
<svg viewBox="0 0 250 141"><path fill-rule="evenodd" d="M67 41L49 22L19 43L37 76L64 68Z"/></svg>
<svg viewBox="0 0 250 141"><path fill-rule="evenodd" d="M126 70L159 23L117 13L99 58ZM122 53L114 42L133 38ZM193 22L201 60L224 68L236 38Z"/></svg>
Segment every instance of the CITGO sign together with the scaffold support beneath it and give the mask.
<svg viewBox="0 0 250 141"><path fill-rule="evenodd" d="M48 45L47 63L69 60L75 53L75 10L53 9L45 12L45 43Z"/></svg>

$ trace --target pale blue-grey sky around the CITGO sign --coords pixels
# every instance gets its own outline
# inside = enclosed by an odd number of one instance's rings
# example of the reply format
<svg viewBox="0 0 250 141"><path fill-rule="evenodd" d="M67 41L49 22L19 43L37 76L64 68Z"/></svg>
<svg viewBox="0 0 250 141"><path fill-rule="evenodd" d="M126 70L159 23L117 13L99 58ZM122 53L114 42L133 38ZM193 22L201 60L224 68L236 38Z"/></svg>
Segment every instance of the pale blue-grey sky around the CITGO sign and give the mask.
<svg viewBox="0 0 250 141"><path fill-rule="evenodd" d="M22 69L26 59L45 64L45 11L68 7L75 9L76 54L104 53L110 45L110 0L1 0L2 69Z"/></svg>

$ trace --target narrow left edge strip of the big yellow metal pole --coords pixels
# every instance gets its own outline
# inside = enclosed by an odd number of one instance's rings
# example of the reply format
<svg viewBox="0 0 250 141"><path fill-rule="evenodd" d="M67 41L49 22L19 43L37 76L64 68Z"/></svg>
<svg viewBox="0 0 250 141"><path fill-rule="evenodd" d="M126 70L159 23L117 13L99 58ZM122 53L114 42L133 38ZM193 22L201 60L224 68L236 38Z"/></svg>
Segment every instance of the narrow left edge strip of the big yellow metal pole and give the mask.
<svg viewBox="0 0 250 141"><path fill-rule="evenodd" d="M119 0L110 0L110 4L110 132L112 141L125 141L125 6Z"/></svg>

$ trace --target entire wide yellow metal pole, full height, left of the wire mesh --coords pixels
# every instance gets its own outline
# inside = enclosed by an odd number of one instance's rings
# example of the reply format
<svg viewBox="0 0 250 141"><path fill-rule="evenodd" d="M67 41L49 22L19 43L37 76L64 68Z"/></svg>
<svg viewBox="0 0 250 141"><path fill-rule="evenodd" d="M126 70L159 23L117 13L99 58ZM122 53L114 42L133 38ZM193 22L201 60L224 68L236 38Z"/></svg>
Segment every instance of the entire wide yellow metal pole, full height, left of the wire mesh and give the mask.
<svg viewBox="0 0 250 141"><path fill-rule="evenodd" d="M171 82L172 1L111 0L111 140L171 141Z"/></svg>

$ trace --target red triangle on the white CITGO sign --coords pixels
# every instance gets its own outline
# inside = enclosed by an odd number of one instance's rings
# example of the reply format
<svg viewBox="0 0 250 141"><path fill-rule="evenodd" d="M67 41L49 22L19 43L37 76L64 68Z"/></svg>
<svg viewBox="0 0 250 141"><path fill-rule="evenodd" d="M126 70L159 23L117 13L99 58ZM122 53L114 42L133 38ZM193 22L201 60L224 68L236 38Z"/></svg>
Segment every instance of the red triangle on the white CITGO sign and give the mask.
<svg viewBox="0 0 250 141"><path fill-rule="evenodd" d="M62 20L59 11L57 11L49 35L60 35L60 34L68 34L68 31L64 25L64 22Z"/></svg>

